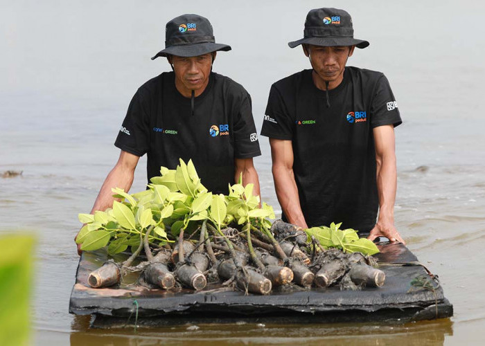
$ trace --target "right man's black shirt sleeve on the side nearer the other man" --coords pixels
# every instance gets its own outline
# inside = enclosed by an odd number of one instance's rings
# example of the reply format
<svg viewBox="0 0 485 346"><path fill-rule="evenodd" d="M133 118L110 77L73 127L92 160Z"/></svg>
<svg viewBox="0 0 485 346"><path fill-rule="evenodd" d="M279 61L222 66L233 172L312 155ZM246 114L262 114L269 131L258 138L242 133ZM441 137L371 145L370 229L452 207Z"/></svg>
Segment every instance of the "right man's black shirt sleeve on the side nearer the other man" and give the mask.
<svg viewBox="0 0 485 346"><path fill-rule="evenodd" d="M273 84L267 100L261 135L275 139L292 140L293 129L294 118L288 111L288 104Z"/></svg>

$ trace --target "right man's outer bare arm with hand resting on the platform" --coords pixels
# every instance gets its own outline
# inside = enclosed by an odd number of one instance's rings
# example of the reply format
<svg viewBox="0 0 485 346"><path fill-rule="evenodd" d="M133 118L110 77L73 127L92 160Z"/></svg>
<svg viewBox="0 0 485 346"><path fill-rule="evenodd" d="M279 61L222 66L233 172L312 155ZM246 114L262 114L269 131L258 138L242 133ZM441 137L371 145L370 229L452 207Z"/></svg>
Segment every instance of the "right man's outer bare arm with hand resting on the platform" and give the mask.
<svg viewBox="0 0 485 346"><path fill-rule="evenodd" d="M394 226L394 202L397 188L394 125L375 127L373 136L376 147L379 217L376 226L371 230L369 239L373 240L382 235L391 242L397 241L405 244Z"/></svg>

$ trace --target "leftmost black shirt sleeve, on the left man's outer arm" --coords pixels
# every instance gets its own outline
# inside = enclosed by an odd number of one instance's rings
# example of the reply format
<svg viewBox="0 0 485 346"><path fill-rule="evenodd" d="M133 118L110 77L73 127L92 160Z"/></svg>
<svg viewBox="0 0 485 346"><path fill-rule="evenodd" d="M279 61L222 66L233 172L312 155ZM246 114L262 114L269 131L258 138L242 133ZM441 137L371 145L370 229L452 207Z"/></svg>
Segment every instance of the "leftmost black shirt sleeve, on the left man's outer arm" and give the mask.
<svg viewBox="0 0 485 346"><path fill-rule="evenodd" d="M125 152L143 156L150 149L150 118L139 89L134 94L114 145Z"/></svg>

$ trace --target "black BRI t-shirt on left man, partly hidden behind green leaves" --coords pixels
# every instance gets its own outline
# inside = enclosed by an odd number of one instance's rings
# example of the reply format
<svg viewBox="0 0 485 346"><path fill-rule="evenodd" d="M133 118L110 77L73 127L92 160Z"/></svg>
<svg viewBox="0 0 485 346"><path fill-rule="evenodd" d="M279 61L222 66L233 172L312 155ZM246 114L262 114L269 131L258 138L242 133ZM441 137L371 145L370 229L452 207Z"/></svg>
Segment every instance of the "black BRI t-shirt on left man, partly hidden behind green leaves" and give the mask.
<svg viewBox="0 0 485 346"><path fill-rule="evenodd" d="M251 98L240 84L211 73L204 92L191 99L175 88L175 74L161 73L134 94L114 145L136 156L148 154L148 180L160 166L175 169L192 159L202 184L228 192L234 159L261 155Z"/></svg>

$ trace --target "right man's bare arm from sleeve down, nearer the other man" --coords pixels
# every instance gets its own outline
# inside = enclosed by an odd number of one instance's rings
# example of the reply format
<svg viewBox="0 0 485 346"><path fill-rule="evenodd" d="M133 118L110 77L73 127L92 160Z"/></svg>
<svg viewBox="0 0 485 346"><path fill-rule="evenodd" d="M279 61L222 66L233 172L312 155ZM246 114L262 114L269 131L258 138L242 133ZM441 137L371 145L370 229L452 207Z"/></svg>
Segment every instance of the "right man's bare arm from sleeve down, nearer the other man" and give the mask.
<svg viewBox="0 0 485 346"><path fill-rule="evenodd" d="M274 189L281 209L290 224L308 228L301 211L297 183L293 174L293 147L291 140L270 138Z"/></svg>

